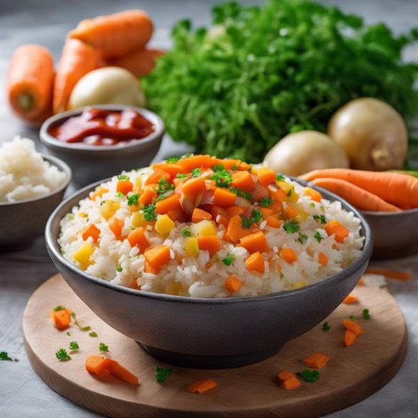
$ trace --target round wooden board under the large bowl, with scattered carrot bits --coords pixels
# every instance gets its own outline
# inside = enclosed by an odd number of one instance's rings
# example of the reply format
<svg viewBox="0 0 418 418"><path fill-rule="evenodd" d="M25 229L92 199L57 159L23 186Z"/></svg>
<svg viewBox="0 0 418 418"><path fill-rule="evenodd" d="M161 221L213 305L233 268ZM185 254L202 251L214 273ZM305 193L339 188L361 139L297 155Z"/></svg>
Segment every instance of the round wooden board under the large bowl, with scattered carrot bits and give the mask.
<svg viewBox="0 0 418 418"><path fill-rule="evenodd" d="M330 330L322 325L307 332L263 362L237 369L195 370L173 367L163 383L155 380L157 361L135 341L113 330L88 309L57 274L33 293L23 318L24 344L33 369L49 387L65 398L112 418L148 417L321 417L347 408L377 392L401 367L407 348L407 331L401 309L389 293L357 286L358 304L341 304L328 318ZM67 330L52 326L49 311L63 304L77 314L84 332L74 323ZM370 320L362 319L369 309ZM111 307L109 307L111 309ZM343 318L357 316L364 334L353 346L343 347ZM67 335L70 332L70 336ZM89 332L98 336L91 337ZM71 360L59 362L55 353L77 341L79 351ZM109 346L116 359L139 378L131 386L114 376L88 373L88 355L100 355L99 343ZM300 373L302 360L314 353L330 357L315 383L297 376L301 386L279 388L277 375L284 370ZM204 394L190 394L185 388L194 380L211 378L217 387Z"/></svg>

